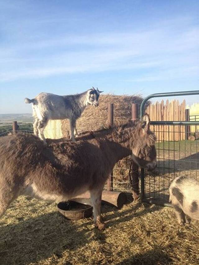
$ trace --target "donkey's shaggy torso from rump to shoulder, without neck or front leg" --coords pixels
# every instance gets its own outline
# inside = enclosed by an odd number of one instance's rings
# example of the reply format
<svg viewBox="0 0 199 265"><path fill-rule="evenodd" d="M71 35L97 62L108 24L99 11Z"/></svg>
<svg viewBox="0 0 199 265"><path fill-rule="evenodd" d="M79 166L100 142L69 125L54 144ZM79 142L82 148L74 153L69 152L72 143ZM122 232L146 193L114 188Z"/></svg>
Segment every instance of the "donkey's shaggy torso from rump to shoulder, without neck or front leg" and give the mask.
<svg viewBox="0 0 199 265"><path fill-rule="evenodd" d="M95 139L49 139L45 146L38 137L17 134L1 137L0 156L0 216L19 195L60 202L96 189L110 170Z"/></svg>

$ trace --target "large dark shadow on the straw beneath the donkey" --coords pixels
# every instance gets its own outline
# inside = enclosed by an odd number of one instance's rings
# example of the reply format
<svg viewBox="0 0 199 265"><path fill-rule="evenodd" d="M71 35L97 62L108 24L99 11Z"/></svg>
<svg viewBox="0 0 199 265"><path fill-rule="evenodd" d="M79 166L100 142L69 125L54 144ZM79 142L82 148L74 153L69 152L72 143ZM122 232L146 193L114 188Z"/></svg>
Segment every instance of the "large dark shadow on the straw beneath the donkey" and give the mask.
<svg viewBox="0 0 199 265"><path fill-rule="evenodd" d="M139 207L141 203L119 212L116 208L103 207L106 228L158 210L156 206L146 205L141 212L136 212ZM113 210L114 213L108 214ZM75 250L96 239L103 243L105 238L106 230L101 232L94 228L92 218L78 223L65 219L58 212L47 213L0 227L0 264L37 263L52 255L61 258L65 250Z"/></svg>

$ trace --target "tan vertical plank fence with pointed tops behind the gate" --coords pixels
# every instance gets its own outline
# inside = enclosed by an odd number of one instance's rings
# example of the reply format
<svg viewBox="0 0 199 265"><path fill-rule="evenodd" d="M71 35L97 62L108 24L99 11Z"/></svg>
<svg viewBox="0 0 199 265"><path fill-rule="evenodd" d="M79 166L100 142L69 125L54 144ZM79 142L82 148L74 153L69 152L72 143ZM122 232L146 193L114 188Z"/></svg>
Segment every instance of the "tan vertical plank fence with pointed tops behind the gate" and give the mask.
<svg viewBox="0 0 199 265"><path fill-rule="evenodd" d="M156 102L147 107L146 113L150 115L151 121L185 121L185 100L179 104L178 100L164 100ZM179 125L151 125L157 140L181 141L185 140L185 126Z"/></svg>

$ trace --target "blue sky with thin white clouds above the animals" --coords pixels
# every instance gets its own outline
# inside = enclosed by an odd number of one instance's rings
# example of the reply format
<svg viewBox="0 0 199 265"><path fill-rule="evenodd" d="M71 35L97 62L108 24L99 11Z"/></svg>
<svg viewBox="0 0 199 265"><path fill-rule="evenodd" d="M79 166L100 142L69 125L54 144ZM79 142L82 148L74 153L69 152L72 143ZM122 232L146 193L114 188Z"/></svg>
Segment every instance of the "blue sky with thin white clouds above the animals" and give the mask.
<svg viewBox="0 0 199 265"><path fill-rule="evenodd" d="M0 113L31 113L40 92L199 89L198 13L192 0L0 0Z"/></svg>

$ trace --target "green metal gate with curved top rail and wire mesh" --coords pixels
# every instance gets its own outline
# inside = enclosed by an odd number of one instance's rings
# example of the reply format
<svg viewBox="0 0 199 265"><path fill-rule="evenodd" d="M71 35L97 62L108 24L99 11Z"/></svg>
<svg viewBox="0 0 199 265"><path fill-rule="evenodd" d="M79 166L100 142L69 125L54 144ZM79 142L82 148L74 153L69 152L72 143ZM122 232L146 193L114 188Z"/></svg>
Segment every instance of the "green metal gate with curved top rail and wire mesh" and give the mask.
<svg viewBox="0 0 199 265"><path fill-rule="evenodd" d="M199 95L199 91L149 95L141 103L140 117L144 114L147 100L155 97L183 95ZM192 141L193 137L190 132L190 126L197 128L199 121L189 120L189 114L186 113L186 115L187 121L151 121L150 123L151 130L156 136L161 133L163 140L156 142L157 172L151 174L141 169L141 199L143 202L168 206L169 185L175 177L189 175L195 179L199 178L199 139ZM164 139L165 131L168 133L166 139ZM195 132L194 138L197 138L197 132Z"/></svg>

